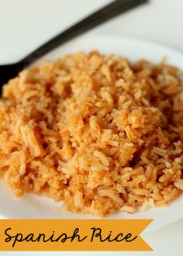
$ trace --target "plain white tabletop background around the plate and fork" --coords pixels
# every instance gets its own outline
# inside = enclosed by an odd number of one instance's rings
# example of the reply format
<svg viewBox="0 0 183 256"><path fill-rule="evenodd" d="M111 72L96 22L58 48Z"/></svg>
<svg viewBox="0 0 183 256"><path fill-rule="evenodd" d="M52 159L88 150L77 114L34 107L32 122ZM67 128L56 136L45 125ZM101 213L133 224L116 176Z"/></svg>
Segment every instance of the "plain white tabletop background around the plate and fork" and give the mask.
<svg viewBox="0 0 183 256"><path fill-rule="evenodd" d="M0 64L18 61L107 2L110 0L0 0ZM88 34L129 36L183 52L183 1L151 0L150 4L118 16ZM183 220L180 220L143 235L154 252L0 252L0 255L181 256L182 237Z"/></svg>

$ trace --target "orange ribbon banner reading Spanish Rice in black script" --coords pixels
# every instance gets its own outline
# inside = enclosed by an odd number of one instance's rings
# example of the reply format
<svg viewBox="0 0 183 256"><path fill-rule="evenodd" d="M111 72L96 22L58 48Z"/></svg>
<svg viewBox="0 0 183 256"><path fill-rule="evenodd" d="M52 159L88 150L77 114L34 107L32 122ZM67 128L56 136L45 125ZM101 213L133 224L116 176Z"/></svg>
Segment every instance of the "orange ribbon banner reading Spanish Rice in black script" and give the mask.
<svg viewBox="0 0 183 256"><path fill-rule="evenodd" d="M153 251L152 220L0 220L0 251Z"/></svg>

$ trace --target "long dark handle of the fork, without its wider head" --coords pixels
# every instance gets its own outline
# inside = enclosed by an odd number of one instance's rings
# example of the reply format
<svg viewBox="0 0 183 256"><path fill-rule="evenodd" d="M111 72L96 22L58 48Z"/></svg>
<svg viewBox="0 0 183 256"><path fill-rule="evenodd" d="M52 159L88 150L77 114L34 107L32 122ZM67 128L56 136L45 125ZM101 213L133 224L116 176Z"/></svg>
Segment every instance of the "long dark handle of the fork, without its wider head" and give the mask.
<svg viewBox="0 0 183 256"><path fill-rule="evenodd" d="M65 43L67 40L71 40L74 36L78 36L98 24L112 19L112 17L119 15L119 13L126 12L145 2L148 2L148 0L116 0L47 41L47 43L44 43L41 47L23 58L22 61L19 61L19 64L23 64L23 66L29 65L44 54L47 54L50 50L54 50L54 48Z"/></svg>

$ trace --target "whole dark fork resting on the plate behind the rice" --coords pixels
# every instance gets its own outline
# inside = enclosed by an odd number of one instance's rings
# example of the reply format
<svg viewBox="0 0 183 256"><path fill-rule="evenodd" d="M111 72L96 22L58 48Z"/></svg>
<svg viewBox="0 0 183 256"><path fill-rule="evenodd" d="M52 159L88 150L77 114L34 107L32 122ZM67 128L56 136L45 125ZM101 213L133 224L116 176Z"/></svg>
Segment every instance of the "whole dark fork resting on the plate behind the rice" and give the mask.
<svg viewBox="0 0 183 256"><path fill-rule="evenodd" d="M90 16L76 23L74 26L71 26L71 28L55 36L47 43L44 43L43 46L34 50L33 53L22 59L22 61L14 64L0 65L0 92L2 85L9 81L10 78L14 78L24 67L27 67L29 64L33 63L33 61L36 61L44 54L47 54L50 50L60 46L67 40L71 40L74 36L78 36L102 22L112 19L112 17L126 12L129 9L133 9L145 2L148 2L148 0L116 0L102 9L99 9L97 12L92 13Z"/></svg>

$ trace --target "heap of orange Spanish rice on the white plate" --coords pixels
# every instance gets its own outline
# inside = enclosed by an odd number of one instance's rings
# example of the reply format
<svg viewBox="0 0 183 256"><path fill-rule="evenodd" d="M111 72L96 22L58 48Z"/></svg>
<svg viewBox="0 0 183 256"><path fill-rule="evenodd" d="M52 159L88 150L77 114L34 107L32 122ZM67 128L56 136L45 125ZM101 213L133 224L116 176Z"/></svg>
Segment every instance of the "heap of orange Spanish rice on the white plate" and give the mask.
<svg viewBox="0 0 183 256"><path fill-rule="evenodd" d="M0 100L6 184L74 213L167 206L183 190L181 75L97 51L22 71Z"/></svg>

